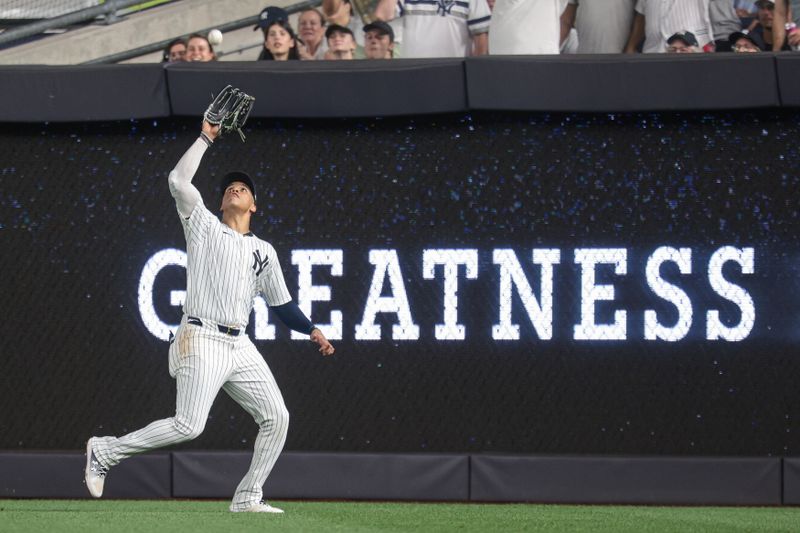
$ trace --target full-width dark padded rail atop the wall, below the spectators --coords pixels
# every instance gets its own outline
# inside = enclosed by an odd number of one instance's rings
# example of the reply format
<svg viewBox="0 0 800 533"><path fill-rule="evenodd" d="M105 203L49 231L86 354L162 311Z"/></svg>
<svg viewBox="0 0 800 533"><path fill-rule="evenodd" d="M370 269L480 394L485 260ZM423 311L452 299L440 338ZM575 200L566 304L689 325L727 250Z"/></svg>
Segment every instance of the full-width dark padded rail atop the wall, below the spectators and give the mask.
<svg viewBox="0 0 800 533"><path fill-rule="evenodd" d="M227 84L256 117L797 107L800 54L2 67L0 121L200 115Z"/></svg>

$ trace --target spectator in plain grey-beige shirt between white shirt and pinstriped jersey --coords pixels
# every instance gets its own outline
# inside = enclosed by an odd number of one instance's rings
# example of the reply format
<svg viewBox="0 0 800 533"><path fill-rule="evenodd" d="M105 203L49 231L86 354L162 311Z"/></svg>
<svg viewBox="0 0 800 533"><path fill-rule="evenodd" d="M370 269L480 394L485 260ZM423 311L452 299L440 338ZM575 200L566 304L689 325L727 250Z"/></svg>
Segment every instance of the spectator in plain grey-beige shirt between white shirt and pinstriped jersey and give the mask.
<svg viewBox="0 0 800 533"><path fill-rule="evenodd" d="M619 54L633 23L636 0L569 0L561 14L561 40L573 26L579 54Z"/></svg>

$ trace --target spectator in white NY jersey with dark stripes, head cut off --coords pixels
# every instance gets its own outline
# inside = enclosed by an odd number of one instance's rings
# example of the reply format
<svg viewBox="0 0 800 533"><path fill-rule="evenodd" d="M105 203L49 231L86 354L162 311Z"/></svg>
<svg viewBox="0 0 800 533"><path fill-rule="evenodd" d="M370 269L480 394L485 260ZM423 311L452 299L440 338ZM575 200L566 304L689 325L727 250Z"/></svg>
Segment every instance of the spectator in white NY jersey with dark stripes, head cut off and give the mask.
<svg viewBox="0 0 800 533"><path fill-rule="evenodd" d="M389 22L399 14L403 57L466 57L488 52L491 14L486 0L379 0L374 18Z"/></svg>

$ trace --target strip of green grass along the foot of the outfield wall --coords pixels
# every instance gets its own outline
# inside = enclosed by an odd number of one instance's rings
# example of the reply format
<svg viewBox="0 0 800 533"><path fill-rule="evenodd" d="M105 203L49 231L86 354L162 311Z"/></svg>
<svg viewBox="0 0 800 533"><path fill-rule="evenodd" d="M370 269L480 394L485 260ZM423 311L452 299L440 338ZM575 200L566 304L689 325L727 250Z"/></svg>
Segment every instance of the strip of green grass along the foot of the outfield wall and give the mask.
<svg viewBox="0 0 800 533"><path fill-rule="evenodd" d="M271 502L283 515L221 501L0 500L0 531L800 531L800 509L611 505Z"/></svg>

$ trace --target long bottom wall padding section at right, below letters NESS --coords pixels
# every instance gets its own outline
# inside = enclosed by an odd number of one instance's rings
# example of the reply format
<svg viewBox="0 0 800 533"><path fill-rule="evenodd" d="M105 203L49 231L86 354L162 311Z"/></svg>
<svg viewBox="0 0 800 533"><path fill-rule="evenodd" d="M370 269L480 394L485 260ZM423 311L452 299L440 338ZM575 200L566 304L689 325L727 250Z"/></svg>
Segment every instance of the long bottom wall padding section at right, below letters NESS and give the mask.
<svg viewBox="0 0 800 533"><path fill-rule="evenodd" d="M475 455L476 501L779 505L781 461L751 457Z"/></svg>

